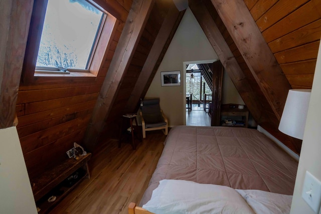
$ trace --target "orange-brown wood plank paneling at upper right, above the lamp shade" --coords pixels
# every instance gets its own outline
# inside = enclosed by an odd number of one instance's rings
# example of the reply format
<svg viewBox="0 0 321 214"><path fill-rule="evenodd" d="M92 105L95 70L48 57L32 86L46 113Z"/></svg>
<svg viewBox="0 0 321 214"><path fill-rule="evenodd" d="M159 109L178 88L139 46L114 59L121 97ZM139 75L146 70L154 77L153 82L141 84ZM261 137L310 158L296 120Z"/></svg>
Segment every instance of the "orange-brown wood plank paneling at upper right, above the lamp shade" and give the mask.
<svg viewBox="0 0 321 214"><path fill-rule="evenodd" d="M293 89L311 89L321 37L321 2L245 1Z"/></svg>

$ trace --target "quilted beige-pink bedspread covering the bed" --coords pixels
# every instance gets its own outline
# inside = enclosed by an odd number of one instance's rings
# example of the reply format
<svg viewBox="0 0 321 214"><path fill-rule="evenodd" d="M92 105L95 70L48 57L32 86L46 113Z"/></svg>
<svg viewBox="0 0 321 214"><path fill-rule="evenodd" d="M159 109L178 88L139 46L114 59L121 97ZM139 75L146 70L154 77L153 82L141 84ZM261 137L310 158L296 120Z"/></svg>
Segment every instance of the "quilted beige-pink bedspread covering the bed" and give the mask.
<svg viewBox="0 0 321 214"><path fill-rule="evenodd" d="M177 126L164 144L140 205L163 179L293 194L298 162L257 130Z"/></svg>

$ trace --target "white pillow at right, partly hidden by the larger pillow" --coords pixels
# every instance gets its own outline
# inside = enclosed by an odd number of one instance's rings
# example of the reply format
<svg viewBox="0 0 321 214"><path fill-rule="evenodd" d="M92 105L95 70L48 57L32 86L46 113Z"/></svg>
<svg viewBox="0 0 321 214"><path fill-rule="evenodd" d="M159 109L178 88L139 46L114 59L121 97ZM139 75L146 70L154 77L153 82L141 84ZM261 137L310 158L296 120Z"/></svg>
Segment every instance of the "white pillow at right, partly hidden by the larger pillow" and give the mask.
<svg viewBox="0 0 321 214"><path fill-rule="evenodd" d="M278 194L262 190L236 189L256 213L290 213L292 195Z"/></svg>

